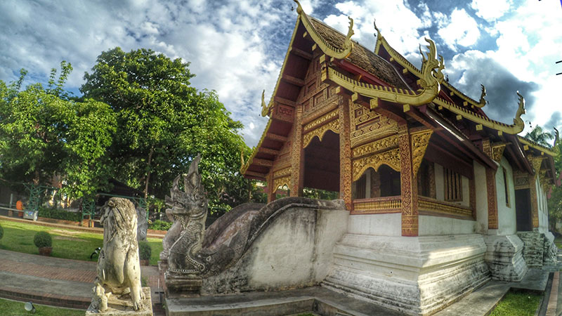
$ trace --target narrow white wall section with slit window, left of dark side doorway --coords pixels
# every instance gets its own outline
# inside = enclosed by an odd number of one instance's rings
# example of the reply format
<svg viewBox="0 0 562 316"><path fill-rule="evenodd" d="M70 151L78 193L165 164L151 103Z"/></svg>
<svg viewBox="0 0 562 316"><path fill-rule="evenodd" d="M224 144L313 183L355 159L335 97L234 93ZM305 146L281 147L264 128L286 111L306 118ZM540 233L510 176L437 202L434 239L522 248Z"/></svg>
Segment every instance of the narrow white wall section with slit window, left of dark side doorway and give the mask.
<svg viewBox="0 0 562 316"><path fill-rule="evenodd" d="M506 171L507 190L509 203L505 198L504 170ZM497 235L513 235L517 232L515 211L514 175L509 162L505 157L499 163L496 171L496 196L497 196Z"/></svg>

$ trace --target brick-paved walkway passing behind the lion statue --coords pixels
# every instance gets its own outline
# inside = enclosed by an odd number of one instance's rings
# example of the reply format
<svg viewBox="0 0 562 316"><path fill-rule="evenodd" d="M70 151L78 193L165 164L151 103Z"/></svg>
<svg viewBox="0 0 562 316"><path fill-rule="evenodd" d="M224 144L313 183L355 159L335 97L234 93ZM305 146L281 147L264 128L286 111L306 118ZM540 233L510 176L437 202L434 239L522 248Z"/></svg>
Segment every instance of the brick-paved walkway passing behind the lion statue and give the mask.
<svg viewBox="0 0 562 316"><path fill-rule="evenodd" d="M158 268L141 267L159 303ZM96 263L52 258L0 249L0 297L86 310L91 301Z"/></svg>

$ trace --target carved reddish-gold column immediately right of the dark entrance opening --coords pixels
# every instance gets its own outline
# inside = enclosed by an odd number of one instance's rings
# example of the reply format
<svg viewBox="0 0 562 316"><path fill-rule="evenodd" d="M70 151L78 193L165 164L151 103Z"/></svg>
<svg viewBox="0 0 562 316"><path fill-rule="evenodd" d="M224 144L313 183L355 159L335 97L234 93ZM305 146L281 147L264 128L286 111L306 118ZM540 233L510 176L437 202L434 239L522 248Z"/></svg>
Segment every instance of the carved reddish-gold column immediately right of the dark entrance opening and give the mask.
<svg viewBox="0 0 562 316"><path fill-rule="evenodd" d="M339 197L351 211L351 131L349 109L353 107L349 97L339 96Z"/></svg>

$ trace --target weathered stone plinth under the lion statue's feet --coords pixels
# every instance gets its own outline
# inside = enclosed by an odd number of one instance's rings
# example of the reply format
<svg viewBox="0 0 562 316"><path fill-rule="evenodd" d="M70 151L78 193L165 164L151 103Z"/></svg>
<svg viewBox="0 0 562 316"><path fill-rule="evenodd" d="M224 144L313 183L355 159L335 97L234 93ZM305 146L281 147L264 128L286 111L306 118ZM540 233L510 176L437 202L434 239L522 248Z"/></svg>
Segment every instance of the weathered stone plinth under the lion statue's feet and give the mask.
<svg viewBox="0 0 562 316"><path fill-rule="evenodd" d="M101 315L101 316L152 316L152 302L150 301L150 287L143 287L142 289L144 298L142 300L142 308L135 310L131 296L125 294L122 297L110 296L107 298L107 310L98 312L93 303L90 304L86 310L86 316Z"/></svg>

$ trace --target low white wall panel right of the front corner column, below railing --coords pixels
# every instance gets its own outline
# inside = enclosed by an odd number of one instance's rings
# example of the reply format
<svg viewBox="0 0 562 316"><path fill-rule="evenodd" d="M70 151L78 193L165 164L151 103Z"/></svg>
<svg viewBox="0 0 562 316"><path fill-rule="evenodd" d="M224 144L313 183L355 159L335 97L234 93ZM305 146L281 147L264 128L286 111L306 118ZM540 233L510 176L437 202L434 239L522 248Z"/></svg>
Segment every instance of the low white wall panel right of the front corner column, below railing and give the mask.
<svg viewBox="0 0 562 316"><path fill-rule="evenodd" d="M462 220L441 216L419 216L419 236L473 234L474 220Z"/></svg>

